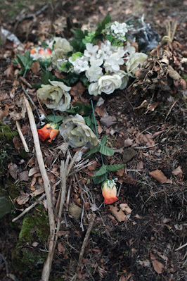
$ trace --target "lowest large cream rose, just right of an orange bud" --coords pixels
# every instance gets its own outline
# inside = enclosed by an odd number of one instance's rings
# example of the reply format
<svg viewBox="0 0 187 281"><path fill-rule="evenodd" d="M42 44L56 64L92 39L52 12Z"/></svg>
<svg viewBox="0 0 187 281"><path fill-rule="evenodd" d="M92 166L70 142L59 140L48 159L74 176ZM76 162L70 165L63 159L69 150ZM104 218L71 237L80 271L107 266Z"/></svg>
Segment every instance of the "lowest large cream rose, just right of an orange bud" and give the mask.
<svg viewBox="0 0 187 281"><path fill-rule="evenodd" d="M59 127L60 135L72 147L96 146L98 139L92 130L85 124L82 115L69 115L63 119L63 124Z"/></svg>

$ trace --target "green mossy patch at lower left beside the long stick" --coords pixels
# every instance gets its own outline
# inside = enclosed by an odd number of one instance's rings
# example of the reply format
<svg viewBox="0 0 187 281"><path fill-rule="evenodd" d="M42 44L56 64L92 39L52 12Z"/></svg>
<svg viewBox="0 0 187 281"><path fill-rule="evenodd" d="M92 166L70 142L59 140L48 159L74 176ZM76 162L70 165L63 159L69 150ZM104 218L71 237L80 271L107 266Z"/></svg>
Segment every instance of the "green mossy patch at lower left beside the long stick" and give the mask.
<svg viewBox="0 0 187 281"><path fill-rule="evenodd" d="M49 222L44 206L39 205L32 216L25 216L18 243L13 250L13 267L19 271L37 276L40 265L46 260L47 252L32 246L33 242L41 244L49 237ZM34 270L33 270L34 268ZM33 270L33 271L32 271ZM30 279L28 279L30 280Z"/></svg>

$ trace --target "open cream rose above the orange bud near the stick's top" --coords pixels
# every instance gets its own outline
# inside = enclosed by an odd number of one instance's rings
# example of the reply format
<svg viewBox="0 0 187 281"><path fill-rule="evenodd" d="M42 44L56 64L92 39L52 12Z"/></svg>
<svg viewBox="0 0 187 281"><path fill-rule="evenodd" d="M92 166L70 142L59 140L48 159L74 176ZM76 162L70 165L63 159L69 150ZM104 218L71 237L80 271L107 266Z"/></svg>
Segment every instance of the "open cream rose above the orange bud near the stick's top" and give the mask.
<svg viewBox="0 0 187 281"><path fill-rule="evenodd" d="M51 85L41 85L38 89L39 99L41 99L48 108L58 111L66 111L70 108L71 96L69 93L71 87L67 87L63 82L50 81Z"/></svg>

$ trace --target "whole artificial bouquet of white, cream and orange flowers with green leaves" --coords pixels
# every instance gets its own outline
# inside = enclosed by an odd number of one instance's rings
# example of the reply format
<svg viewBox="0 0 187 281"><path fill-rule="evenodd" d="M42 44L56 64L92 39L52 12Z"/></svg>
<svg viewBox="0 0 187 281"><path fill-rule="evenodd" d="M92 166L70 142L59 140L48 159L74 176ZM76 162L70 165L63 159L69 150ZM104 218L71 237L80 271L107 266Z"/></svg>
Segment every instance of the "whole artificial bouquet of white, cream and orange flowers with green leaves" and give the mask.
<svg viewBox="0 0 187 281"><path fill-rule="evenodd" d="M25 56L18 55L13 60L14 63L20 63L20 74L25 75L33 61L38 61L43 70L41 83L35 86L38 88L39 99L47 108L51 108L53 115L50 118L47 116L49 123L38 129L42 141L51 142L60 132L70 146L90 148L85 156L97 152L101 154L101 158L102 154L114 154L105 145L106 136L98 140L93 101L91 100L91 106L79 103L72 107L70 89L81 81L91 96L98 96L102 93L112 94L115 89L127 87L129 77L136 77L136 70L146 63L148 57L137 52L128 40L132 29L132 25L127 23L112 23L110 15L107 15L101 24L98 23L95 31L72 30L75 39L70 42L65 38L54 37L48 44L43 44L44 48L34 47ZM49 65L53 70L62 72L65 77L52 75L48 70ZM56 110L65 112L65 116L55 115ZM82 111L85 111L84 115L81 115ZM102 163L101 168L93 175L93 182L103 182L104 203L112 204L118 200L117 189L108 173L119 170L124 165L107 166L103 161Z"/></svg>

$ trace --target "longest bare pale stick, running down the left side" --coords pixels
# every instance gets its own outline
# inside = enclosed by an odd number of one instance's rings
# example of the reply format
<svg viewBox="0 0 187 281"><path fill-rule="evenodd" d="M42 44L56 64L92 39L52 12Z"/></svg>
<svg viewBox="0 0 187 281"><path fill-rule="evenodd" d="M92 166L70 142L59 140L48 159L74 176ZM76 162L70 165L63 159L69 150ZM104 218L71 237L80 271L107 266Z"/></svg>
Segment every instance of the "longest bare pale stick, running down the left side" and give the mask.
<svg viewBox="0 0 187 281"><path fill-rule="evenodd" d="M46 173L46 169L44 166L44 160L43 156L41 154L40 144L39 144L39 137L37 133L37 126L34 120L34 115L32 113L32 108L30 106L29 101L27 100L26 96L24 95L25 104L27 107L27 113L30 120L30 128L32 130L32 135L34 139L34 146L36 150L37 155L37 161L39 164L39 170L41 173L41 177L44 181L44 189L46 192L46 201L47 201L47 209L48 209L48 216L49 216L49 227L50 227L50 242L49 242L49 254L46 259L46 262L44 263L44 268L42 271L41 279L43 281L49 280L50 270L51 270L51 253L53 252L53 244L54 244L54 238L55 238L55 219L54 219L54 213L53 213L53 201L51 198L51 186L49 182L49 177Z"/></svg>

